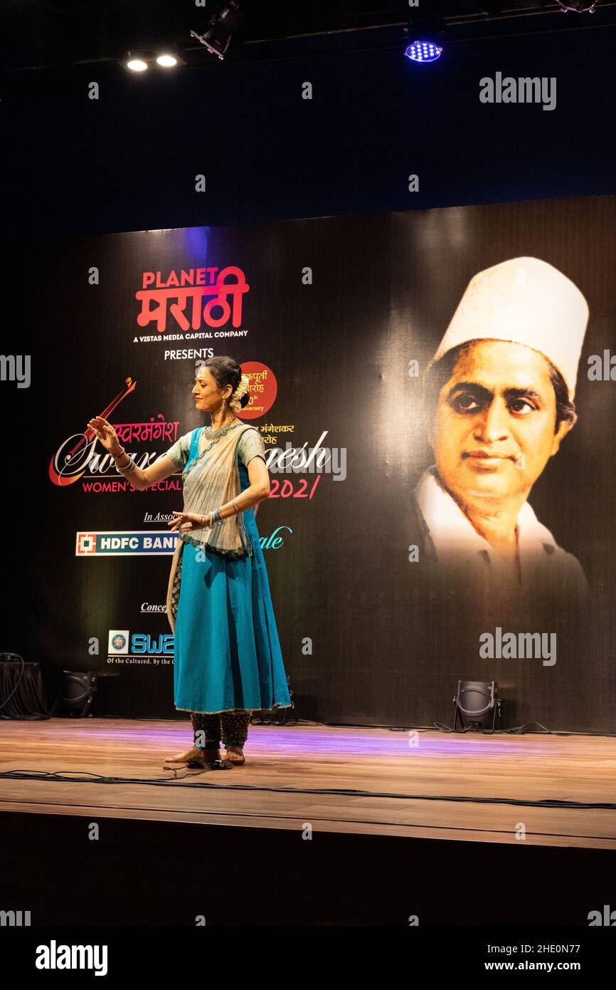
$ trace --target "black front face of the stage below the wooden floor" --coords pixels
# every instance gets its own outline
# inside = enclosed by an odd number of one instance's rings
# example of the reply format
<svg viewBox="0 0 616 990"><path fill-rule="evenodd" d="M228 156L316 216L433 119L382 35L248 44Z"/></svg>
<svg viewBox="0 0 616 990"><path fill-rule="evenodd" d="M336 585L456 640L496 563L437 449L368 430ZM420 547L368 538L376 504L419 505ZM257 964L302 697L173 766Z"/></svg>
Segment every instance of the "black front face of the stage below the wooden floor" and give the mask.
<svg viewBox="0 0 616 990"><path fill-rule="evenodd" d="M0 841L0 909L31 911L33 927L588 929L605 906L616 927L605 849L12 812Z"/></svg>

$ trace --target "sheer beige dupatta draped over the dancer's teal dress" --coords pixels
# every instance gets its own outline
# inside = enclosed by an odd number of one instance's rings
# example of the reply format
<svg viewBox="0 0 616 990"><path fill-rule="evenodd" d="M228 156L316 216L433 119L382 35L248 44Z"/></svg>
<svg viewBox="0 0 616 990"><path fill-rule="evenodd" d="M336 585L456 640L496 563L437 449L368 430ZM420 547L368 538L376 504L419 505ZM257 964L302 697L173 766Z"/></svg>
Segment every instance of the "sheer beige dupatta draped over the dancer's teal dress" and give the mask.
<svg viewBox="0 0 616 990"><path fill-rule="evenodd" d="M207 516L217 506L230 502L240 494L237 442L246 430L251 429L249 424L232 424L227 430L220 431L220 437L207 438L204 449L193 460L189 459L183 471L184 512ZM185 543L193 544L203 552L206 546L210 546L231 558L252 555L252 544L245 531L241 512L208 530L180 530L167 587L167 617L172 632L175 632L180 598L182 550Z"/></svg>

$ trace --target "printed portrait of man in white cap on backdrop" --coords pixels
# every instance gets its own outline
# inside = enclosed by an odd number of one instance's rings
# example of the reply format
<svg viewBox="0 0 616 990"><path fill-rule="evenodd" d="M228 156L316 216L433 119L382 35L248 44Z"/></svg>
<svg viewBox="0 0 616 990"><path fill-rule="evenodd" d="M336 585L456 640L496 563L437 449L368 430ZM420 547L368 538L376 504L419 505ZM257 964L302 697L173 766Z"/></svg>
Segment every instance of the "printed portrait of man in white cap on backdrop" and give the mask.
<svg viewBox="0 0 616 990"><path fill-rule="evenodd" d="M578 560L528 502L576 420L586 300L515 257L471 279L425 374L434 463L414 489L419 560L482 599L583 602Z"/></svg>

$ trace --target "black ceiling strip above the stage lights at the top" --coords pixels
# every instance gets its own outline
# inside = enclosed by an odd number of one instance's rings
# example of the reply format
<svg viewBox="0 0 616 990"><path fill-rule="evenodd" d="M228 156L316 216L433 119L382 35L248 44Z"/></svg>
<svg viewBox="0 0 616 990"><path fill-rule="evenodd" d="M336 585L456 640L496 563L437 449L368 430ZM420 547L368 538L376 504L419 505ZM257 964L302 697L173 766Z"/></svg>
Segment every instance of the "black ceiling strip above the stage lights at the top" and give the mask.
<svg viewBox="0 0 616 990"><path fill-rule="evenodd" d="M165 44L189 64L220 64L190 37L191 29L205 32L217 6L216 0L205 8L195 0L2 0L0 67L14 73L116 65L129 49ZM446 30L450 39L616 23L615 0L597 0L594 14L563 14L556 0L420 0L417 8L408 0L243 0L239 9L245 21L228 62L401 43L409 25L411 32Z"/></svg>

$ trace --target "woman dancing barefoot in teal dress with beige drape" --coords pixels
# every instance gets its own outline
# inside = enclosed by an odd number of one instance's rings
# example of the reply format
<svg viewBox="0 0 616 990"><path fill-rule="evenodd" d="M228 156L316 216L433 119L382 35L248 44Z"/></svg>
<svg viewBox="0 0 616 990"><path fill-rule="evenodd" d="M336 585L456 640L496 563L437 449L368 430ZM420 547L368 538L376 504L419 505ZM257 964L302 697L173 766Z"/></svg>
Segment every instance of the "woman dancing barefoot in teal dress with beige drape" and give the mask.
<svg viewBox="0 0 616 990"><path fill-rule="evenodd" d="M168 763L212 763L220 759L220 739L226 758L244 763L252 711L291 707L253 510L270 490L265 446L259 431L235 416L249 401L248 384L233 358L208 358L193 394L211 425L184 434L145 470L107 420L89 423L137 490L182 471L184 509L168 524L179 539L167 615L175 634L175 708L191 713L194 745Z"/></svg>

